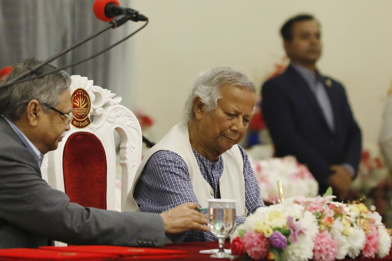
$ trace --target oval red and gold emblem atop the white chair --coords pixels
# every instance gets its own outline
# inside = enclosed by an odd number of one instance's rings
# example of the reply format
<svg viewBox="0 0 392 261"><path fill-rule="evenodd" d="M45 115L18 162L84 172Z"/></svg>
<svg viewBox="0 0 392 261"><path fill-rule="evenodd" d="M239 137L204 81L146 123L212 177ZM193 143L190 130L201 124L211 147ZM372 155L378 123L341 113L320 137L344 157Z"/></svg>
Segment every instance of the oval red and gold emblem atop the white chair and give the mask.
<svg viewBox="0 0 392 261"><path fill-rule="evenodd" d="M83 129L91 124L89 118L91 102L90 96L83 88L76 88L71 96L73 120L71 124L75 128Z"/></svg>

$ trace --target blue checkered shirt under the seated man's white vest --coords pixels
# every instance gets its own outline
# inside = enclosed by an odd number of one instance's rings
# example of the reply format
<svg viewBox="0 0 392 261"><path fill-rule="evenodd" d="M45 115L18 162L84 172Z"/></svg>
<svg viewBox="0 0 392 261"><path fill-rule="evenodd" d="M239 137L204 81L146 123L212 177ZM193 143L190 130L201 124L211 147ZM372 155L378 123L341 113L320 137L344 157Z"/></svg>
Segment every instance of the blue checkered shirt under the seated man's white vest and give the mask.
<svg viewBox="0 0 392 261"><path fill-rule="evenodd" d="M248 156L243 148L239 147L244 159L245 206L250 214L257 208L264 207L264 202ZM217 162L211 162L194 149L193 153L201 174L214 189L214 198L221 198L219 179L223 172L222 156ZM170 150L157 151L149 158L136 184L133 196L143 212L162 213L182 203L198 203L187 164L177 153ZM241 224L244 220L244 218L237 217L236 222ZM195 230L169 237L172 242L217 240L211 232Z"/></svg>

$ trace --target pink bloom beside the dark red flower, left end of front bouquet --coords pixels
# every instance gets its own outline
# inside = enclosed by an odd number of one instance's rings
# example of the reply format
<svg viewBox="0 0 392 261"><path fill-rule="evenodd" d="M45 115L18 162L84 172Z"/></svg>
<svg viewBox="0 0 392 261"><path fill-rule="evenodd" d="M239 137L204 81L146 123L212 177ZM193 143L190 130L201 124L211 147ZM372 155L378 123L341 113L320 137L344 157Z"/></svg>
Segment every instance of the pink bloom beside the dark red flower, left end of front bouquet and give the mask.
<svg viewBox="0 0 392 261"><path fill-rule="evenodd" d="M267 257L270 241L263 234L254 231L247 231L244 234L244 246L246 254L252 259L262 259Z"/></svg>

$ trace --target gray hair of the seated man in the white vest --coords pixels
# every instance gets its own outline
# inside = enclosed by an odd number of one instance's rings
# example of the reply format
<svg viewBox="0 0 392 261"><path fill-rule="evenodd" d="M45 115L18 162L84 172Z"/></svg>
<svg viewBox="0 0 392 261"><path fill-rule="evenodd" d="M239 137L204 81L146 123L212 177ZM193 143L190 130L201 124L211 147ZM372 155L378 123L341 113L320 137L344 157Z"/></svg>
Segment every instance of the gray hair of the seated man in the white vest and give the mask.
<svg viewBox="0 0 392 261"><path fill-rule="evenodd" d="M214 67L200 72L191 88L191 94L184 104L185 121L189 124L195 118L193 102L199 97L209 112L218 106L222 97L220 87L224 84L236 86L256 93L256 88L243 72L232 67Z"/></svg>

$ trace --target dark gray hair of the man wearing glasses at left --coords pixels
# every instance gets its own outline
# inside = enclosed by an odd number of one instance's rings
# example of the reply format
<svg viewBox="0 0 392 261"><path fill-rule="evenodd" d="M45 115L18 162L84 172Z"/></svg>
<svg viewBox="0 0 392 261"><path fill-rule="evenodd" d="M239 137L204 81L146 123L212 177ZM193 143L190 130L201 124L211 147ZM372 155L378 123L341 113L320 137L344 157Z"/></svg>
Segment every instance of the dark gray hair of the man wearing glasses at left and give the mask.
<svg viewBox="0 0 392 261"><path fill-rule="evenodd" d="M40 61L35 58L28 58L19 61L11 66L12 71L0 79L0 84L4 84L29 70ZM51 65L41 67L36 73L30 74L25 79L35 77L40 74L53 71L56 68ZM50 73L44 77L29 80L8 87L0 88L0 114L16 120L20 119L26 109L27 104L33 100L38 100L41 104L50 107L60 102L60 95L71 85L71 77L65 71ZM45 106L45 110L48 110Z"/></svg>

